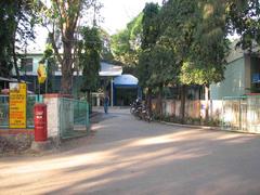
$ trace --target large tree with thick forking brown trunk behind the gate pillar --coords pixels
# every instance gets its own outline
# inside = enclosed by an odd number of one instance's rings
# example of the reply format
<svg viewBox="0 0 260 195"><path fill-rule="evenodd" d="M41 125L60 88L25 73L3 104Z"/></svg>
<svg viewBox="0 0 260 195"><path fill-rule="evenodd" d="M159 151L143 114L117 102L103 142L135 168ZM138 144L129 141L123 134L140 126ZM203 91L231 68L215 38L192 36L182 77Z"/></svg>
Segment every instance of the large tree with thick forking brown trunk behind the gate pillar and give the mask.
<svg viewBox="0 0 260 195"><path fill-rule="evenodd" d="M51 42L56 58L62 66L61 93L72 93L73 73L75 70L75 60L77 56L77 30L79 27L80 14L86 14L91 5L96 5L95 0L51 0L51 6L38 5L39 18L50 31ZM96 10L95 10L96 11ZM55 32L61 34L63 54L60 54Z"/></svg>

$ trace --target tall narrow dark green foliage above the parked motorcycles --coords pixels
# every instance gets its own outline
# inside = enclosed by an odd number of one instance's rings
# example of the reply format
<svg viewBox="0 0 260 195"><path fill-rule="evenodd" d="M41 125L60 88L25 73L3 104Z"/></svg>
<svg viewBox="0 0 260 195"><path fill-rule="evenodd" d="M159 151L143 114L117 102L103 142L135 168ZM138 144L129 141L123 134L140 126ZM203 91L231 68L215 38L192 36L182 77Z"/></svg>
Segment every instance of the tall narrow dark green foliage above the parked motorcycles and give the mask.
<svg viewBox="0 0 260 195"><path fill-rule="evenodd" d="M142 52L139 55L138 64L139 83L143 88L164 84L164 81L160 79L161 73L158 72L161 72L161 66L167 63L164 52L168 52L168 50L161 46L156 46L159 35L158 13L159 6L155 3L147 3L143 10ZM169 55L169 57L171 57L171 55ZM158 76L160 78L158 78Z"/></svg>

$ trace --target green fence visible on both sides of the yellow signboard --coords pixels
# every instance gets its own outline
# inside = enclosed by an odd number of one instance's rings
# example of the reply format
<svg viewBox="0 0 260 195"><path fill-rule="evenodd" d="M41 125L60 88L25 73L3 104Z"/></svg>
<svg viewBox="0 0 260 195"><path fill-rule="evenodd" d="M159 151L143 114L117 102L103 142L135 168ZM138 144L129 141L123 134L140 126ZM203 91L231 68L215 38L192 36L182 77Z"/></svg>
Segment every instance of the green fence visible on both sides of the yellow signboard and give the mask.
<svg viewBox="0 0 260 195"><path fill-rule="evenodd" d="M42 96L27 96L27 128L34 128L34 105L36 102L42 102ZM0 128L9 128L9 95L0 95Z"/></svg>

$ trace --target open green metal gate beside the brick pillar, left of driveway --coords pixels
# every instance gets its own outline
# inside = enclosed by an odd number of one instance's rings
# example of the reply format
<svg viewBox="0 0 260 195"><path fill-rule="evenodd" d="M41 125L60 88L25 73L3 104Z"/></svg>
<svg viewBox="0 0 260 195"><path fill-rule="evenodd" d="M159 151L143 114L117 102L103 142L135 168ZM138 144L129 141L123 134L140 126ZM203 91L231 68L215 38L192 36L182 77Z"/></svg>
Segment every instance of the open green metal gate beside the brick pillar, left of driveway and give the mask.
<svg viewBox="0 0 260 195"><path fill-rule="evenodd" d="M89 104L86 101L60 99L60 135L62 139L82 136L89 129Z"/></svg>

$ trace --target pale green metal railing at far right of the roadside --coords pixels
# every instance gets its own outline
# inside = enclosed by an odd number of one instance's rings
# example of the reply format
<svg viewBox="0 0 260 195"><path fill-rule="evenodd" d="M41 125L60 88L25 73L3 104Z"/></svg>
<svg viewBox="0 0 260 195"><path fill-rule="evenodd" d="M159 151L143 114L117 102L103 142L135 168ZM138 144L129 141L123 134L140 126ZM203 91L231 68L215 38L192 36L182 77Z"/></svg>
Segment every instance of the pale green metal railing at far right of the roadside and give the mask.
<svg viewBox="0 0 260 195"><path fill-rule="evenodd" d="M260 132L260 96L227 96L222 103L222 129Z"/></svg>

